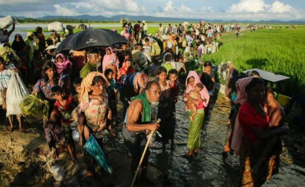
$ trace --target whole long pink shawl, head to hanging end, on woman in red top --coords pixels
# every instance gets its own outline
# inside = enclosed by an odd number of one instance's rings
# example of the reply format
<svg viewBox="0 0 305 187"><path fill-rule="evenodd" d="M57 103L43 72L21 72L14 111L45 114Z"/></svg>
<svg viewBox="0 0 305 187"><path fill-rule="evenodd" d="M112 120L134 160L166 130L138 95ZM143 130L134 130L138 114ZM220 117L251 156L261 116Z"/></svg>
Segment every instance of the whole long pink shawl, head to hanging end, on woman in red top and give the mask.
<svg viewBox="0 0 305 187"><path fill-rule="evenodd" d="M238 79L236 82L236 91L237 91L237 98L235 100L235 104L242 105L245 103L248 99L247 93L246 93L246 86L252 81L254 77L245 77L242 79ZM242 141L243 133L241 126L238 121L238 114L235 120L234 125L234 131L233 131L233 137L231 142L231 148L235 151L235 154L239 154L239 150L241 147L241 141Z"/></svg>

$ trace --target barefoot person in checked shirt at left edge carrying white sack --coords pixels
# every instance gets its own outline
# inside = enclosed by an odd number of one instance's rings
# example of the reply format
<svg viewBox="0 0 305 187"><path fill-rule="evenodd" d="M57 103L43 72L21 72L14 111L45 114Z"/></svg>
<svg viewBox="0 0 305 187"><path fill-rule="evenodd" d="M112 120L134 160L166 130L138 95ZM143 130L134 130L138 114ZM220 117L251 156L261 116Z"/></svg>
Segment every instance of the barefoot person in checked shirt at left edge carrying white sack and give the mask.
<svg viewBox="0 0 305 187"><path fill-rule="evenodd" d="M13 75L13 71L17 72L17 69L15 68L14 70L9 70L6 66L5 66L5 60L3 57L0 57L0 92L1 92L1 98L2 98L2 108L6 110L7 105L6 105L6 92L7 92L7 88L9 85L9 82L12 78ZM12 115L8 116L9 118L9 122L10 122L10 129L8 130L8 132L12 132L14 130L14 125L13 125L13 117ZM22 123L21 123L21 116L20 115L16 115L16 118L18 120L19 123L19 131L23 132L23 128L22 128Z"/></svg>

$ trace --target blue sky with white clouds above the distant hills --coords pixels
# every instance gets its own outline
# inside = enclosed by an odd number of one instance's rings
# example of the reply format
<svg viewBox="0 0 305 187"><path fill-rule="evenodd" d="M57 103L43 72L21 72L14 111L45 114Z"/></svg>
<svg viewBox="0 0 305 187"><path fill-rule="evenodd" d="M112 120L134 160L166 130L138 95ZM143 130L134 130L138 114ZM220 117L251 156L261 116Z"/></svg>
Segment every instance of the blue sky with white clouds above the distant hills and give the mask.
<svg viewBox="0 0 305 187"><path fill-rule="evenodd" d="M305 20L305 0L0 0L0 15L146 15L207 20Z"/></svg>

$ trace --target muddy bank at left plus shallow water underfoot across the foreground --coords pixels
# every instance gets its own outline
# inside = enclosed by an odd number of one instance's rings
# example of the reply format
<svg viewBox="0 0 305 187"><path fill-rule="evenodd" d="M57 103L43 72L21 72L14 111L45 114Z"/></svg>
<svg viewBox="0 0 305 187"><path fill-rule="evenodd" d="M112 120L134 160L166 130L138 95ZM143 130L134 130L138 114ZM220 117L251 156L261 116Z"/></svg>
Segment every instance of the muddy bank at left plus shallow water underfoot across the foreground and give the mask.
<svg viewBox="0 0 305 187"><path fill-rule="evenodd" d="M222 158L223 145L228 131L228 112L229 102L225 97L219 95L210 100L210 114L201 132L201 149L198 155L187 159L188 119L184 103L178 101L176 104L175 149L171 151L168 145L166 153L162 154L161 144L154 142L150 149L149 161L163 174L156 184L139 184L138 186L238 186L238 157L229 155L226 163L223 162ZM157 115L157 108L153 108L153 114ZM7 127L3 125L3 120L1 121L0 129L5 131ZM15 183L11 183L11 186L22 186L22 181L25 180L23 178L27 175L28 178L32 177L33 179L31 179L32 185L31 182L28 182L26 186L53 186L55 181L52 175L43 170L48 160L47 148L32 151L28 148L33 148L32 144L37 147L45 143L43 134L41 130L37 130L38 126L30 125L25 128L27 128L26 137L17 131L12 134L0 132L0 136L2 136L2 141L0 141L0 186L8 184L12 180ZM104 143L108 148L116 149L107 157L111 157L109 163L115 167L114 170L119 171L120 174L123 172L124 176L126 175L124 172L129 171L127 163L130 161L126 155L127 151L120 129L121 127L118 126L116 128L117 136L115 138L107 136ZM263 186L303 186L304 184L305 133L300 129L292 128L291 132L283 137L283 145L284 152L281 154L279 174L272 176ZM122 160L118 162L115 157L124 158L125 163ZM119 170L120 167L125 167L126 170ZM130 180L130 176L127 178ZM75 186L83 186L81 185L83 182L77 181L74 184L77 184ZM127 183L121 180L120 185L115 186L129 186ZM102 185L98 183L98 185L92 186ZM57 182L57 186L71 185L58 184Z"/></svg>

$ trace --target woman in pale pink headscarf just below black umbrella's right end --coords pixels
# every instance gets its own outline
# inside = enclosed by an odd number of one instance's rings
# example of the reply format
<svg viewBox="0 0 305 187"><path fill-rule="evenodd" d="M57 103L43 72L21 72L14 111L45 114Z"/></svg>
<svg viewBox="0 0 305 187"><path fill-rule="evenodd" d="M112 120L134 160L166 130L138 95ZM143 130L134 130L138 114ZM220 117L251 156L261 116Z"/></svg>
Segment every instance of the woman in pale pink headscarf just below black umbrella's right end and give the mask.
<svg viewBox="0 0 305 187"><path fill-rule="evenodd" d="M116 57L116 54L113 52L111 47L107 47L105 51L106 54L104 55L103 63L102 63L103 73L105 73L106 69L110 68L115 72L114 76L116 78L118 72L118 65L119 65L118 58Z"/></svg>

